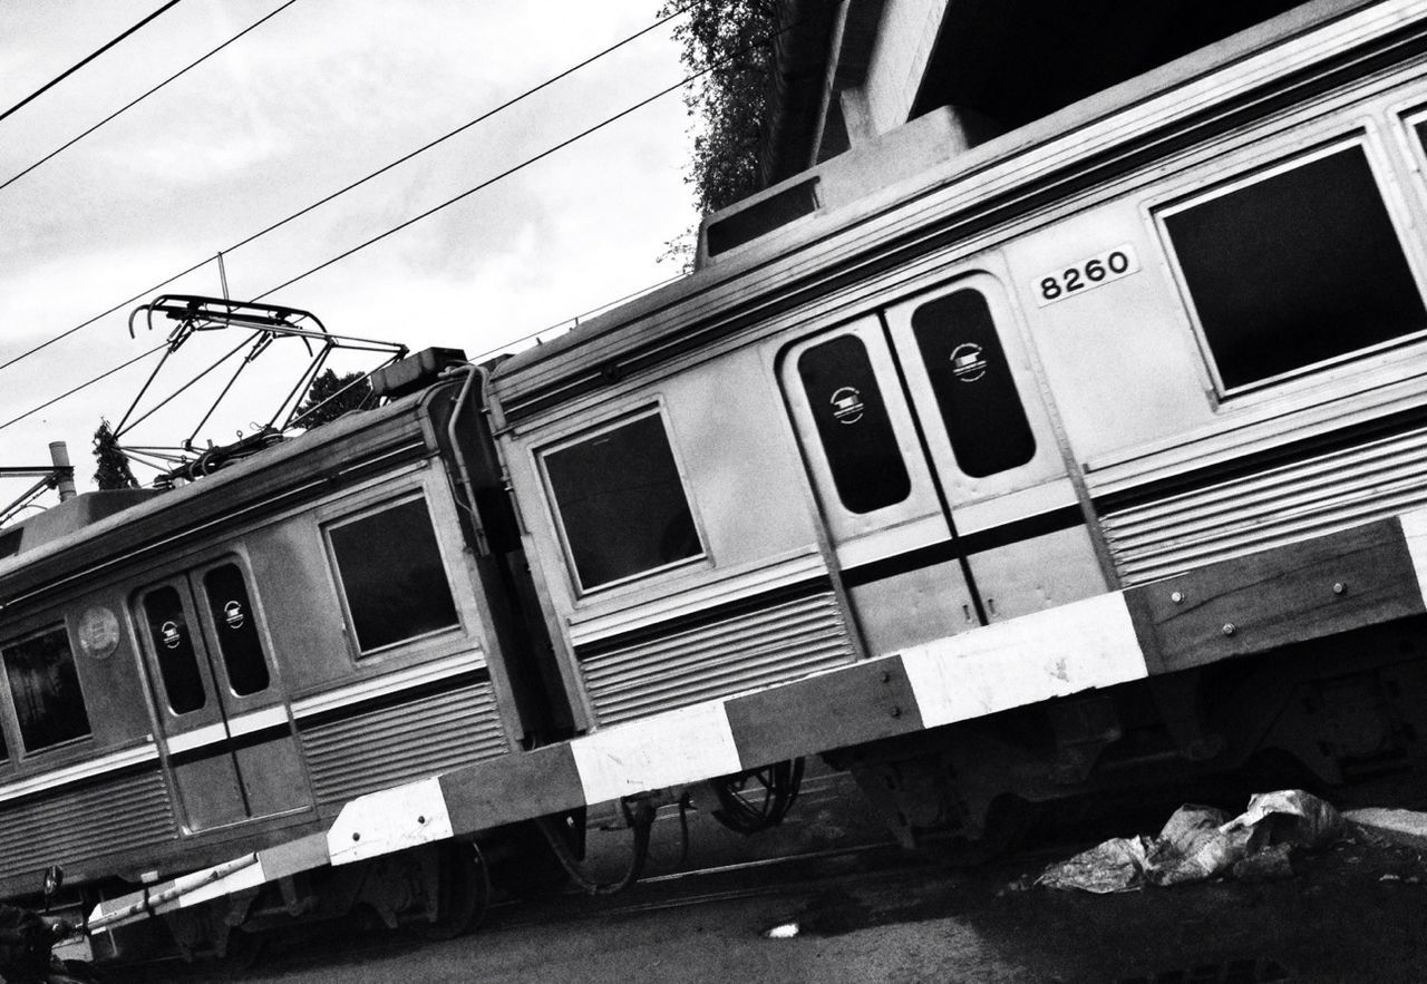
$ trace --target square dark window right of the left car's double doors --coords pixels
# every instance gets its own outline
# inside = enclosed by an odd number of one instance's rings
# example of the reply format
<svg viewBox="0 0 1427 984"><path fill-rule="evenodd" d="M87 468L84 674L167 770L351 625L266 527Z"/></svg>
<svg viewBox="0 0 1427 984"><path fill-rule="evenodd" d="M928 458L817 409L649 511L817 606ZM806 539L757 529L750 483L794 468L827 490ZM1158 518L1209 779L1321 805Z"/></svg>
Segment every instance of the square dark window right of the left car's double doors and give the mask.
<svg viewBox="0 0 1427 984"><path fill-rule="evenodd" d="M425 501L334 526L330 536L361 652L458 623Z"/></svg>

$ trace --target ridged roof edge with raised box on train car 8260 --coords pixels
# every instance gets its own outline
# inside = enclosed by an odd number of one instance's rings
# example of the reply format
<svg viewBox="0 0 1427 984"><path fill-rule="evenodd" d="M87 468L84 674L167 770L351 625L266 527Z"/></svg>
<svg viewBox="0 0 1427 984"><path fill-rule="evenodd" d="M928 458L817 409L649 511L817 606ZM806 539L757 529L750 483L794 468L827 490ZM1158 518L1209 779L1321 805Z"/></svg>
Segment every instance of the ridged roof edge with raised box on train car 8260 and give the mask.
<svg viewBox="0 0 1427 984"><path fill-rule="evenodd" d="M708 232L729 218L746 215L746 227L766 231L675 284L509 358L492 375L495 409L504 424L518 422L1043 208L1187 140L1241 125L1234 110L1269 113L1271 96L1303 86L1306 76L1330 84L1364 47L1387 46L1403 31L1421 34L1424 20L1427 11L1413 0L1317 0L975 147L956 138L946 110L940 123L913 120L705 218L705 254ZM1294 37L1307 43L1271 51ZM1216 81L1233 66L1241 71L1232 83ZM1202 113L1209 104L1217 110L1212 117ZM908 157L918 165L913 174ZM786 197L813 181L812 211L789 208ZM759 208L769 215L753 214ZM779 224L779 215L792 218Z"/></svg>

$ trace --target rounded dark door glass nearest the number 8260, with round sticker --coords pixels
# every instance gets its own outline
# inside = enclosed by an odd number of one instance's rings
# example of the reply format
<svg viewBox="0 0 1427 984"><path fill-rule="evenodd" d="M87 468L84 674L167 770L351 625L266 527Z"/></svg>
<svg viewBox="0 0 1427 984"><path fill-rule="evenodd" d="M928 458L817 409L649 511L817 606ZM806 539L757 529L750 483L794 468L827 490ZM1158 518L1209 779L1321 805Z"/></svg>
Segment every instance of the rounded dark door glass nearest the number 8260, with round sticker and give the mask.
<svg viewBox="0 0 1427 984"><path fill-rule="evenodd" d="M956 291L929 301L912 314L912 334L956 466L982 478L1030 461L1036 436L986 298L977 291Z"/></svg>

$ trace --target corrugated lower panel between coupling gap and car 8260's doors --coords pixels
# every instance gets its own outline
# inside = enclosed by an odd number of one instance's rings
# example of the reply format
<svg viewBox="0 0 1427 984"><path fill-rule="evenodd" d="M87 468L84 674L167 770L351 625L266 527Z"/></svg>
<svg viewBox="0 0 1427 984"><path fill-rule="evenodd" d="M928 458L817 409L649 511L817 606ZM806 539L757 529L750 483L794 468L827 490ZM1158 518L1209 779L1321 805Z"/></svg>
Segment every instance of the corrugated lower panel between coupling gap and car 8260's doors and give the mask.
<svg viewBox="0 0 1427 984"><path fill-rule="evenodd" d="M581 666L599 723L792 680L852 659L832 592L612 649Z"/></svg>

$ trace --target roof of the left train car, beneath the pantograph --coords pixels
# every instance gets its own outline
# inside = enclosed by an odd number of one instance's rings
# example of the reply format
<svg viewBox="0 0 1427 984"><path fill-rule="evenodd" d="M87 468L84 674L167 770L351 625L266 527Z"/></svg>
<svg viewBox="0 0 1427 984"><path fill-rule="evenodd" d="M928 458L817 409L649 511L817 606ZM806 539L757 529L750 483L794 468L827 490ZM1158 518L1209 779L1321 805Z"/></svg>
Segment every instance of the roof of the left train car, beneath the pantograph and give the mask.
<svg viewBox="0 0 1427 984"><path fill-rule="evenodd" d="M103 506L86 501L101 503L104 496L114 495L108 492L86 493L56 506L87 522L53 523L57 536L0 559L0 616L39 592L140 553L215 535L264 509L295 505L375 466L390 468L422 455L428 441L418 411L430 394L348 414L181 488L133 495L127 508L107 515ZM27 525L36 519L40 518ZM74 528L66 529L68 525Z"/></svg>

